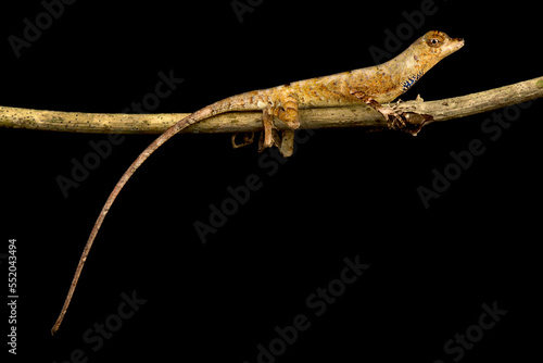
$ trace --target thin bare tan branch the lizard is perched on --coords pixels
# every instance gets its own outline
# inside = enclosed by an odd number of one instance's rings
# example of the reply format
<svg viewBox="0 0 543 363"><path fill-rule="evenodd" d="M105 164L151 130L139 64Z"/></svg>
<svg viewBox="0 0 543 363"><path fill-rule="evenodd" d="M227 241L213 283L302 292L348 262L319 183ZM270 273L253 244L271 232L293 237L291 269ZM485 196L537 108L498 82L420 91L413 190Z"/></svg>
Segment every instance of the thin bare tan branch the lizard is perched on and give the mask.
<svg viewBox="0 0 543 363"><path fill-rule="evenodd" d="M439 101L386 105L415 126L465 117L543 97L543 77ZM0 107L0 127L93 134L162 134L187 113L121 114L40 111ZM384 117L366 104L300 110L301 128L387 128ZM262 129L260 112L229 112L197 123L184 133L243 133Z"/></svg>

